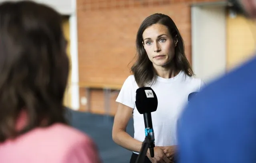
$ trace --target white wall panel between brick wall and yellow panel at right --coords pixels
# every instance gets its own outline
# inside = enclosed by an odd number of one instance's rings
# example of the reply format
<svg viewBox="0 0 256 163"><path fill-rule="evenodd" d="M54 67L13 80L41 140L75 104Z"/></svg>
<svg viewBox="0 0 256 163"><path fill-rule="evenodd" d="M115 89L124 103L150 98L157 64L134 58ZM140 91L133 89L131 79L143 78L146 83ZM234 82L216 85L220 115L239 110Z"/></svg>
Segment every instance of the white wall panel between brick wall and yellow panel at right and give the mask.
<svg viewBox="0 0 256 163"><path fill-rule="evenodd" d="M192 6L192 68L205 82L226 72L225 6Z"/></svg>

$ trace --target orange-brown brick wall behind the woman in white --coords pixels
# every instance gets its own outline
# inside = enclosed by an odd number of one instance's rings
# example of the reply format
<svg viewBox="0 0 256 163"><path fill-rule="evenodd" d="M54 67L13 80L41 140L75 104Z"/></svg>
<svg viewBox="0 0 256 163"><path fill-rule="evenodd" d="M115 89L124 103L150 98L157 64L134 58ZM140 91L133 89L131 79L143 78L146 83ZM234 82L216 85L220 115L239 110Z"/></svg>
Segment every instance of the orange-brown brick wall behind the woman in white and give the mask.
<svg viewBox="0 0 256 163"><path fill-rule="evenodd" d="M218 0L77 0L79 82L122 84L135 55L135 37L141 22L153 13L169 15L185 41L191 62L190 4ZM80 88L80 97L86 96ZM115 98L111 96L111 112ZM104 113L103 91L91 96L93 112ZM86 106L81 105L81 110Z"/></svg>

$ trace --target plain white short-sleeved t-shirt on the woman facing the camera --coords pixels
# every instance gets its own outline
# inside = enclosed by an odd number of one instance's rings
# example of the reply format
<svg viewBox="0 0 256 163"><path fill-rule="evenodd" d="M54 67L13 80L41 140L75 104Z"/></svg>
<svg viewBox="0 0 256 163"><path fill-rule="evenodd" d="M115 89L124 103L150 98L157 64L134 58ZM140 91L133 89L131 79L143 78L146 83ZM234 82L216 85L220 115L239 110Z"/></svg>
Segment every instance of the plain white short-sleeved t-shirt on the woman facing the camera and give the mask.
<svg viewBox="0 0 256 163"><path fill-rule="evenodd" d="M201 85L203 85L201 79L189 77L183 71L170 79L157 77L157 81L151 86L158 100L157 110L151 112L156 146L177 144L176 124L179 114L187 104L188 94L199 92ZM116 101L133 108L134 138L144 141L143 114L139 114L135 106L135 95L138 88L134 76L130 75L123 83Z"/></svg>

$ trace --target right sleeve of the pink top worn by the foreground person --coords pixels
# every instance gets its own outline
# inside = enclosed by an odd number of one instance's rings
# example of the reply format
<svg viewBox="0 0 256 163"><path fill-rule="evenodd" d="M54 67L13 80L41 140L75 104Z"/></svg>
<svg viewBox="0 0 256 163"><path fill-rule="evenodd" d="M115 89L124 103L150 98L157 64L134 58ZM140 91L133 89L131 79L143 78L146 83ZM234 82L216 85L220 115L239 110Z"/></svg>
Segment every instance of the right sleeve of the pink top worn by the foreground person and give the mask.
<svg viewBox="0 0 256 163"><path fill-rule="evenodd" d="M77 141L66 156L62 163L101 163L97 146L91 139L86 137L81 141Z"/></svg>

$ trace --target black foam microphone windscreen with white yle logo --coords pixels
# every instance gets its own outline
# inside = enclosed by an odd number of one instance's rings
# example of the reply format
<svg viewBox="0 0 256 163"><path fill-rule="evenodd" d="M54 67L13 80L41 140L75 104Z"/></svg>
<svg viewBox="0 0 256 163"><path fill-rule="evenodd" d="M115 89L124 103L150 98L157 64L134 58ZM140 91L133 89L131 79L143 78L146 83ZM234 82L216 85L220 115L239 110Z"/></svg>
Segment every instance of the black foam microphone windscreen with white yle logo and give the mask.
<svg viewBox="0 0 256 163"><path fill-rule="evenodd" d="M152 88L141 87L136 90L135 105L140 114L157 110L157 96Z"/></svg>

